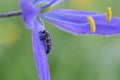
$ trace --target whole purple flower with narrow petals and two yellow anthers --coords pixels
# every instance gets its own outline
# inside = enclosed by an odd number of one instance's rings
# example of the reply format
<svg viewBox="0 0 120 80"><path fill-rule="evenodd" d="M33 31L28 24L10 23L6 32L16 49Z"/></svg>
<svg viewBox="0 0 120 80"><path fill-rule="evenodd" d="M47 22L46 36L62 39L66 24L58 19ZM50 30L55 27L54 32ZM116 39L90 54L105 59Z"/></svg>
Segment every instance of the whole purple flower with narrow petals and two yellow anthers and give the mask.
<svg viewBox="0 0 120 80"><path fill-rule="evenodd" d="M20 0L26 27L32 30L33 52L40 80L50 80L46 54L47 45L44 40L40 39L43 35L41 32L45 31L42 19L46 19L57 28L75 35L114 35L120 33L120 18L112 17L110 7L103 14L80 10L53 9L56 4L63 1Z"/></svg>

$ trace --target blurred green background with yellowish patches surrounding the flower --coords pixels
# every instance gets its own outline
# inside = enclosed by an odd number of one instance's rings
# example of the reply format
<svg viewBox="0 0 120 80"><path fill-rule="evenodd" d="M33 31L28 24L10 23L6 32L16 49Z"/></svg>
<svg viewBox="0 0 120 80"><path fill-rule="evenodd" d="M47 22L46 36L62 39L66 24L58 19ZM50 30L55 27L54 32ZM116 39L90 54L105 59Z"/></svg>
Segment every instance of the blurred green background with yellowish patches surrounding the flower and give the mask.
<svg viewBox="0 0 120 80"><path fill-rule="evenodd" d="M120 17L120 0L68 0L58 8L104 13L111 6ZM0 12L19 10L18 0L0 0ZM120 80L120 35L74 36L48 22L53 38L49 54L52 80ZM31 31L19 17L0 19L0 80L39 80L32 52Z"/></svg>

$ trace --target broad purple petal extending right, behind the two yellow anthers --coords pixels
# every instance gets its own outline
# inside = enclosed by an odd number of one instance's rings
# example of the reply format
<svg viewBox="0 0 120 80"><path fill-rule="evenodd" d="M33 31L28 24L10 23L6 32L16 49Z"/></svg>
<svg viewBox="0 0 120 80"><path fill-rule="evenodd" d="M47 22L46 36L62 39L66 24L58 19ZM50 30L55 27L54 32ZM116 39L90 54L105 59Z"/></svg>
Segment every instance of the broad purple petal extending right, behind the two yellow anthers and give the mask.
<svg viewBox="0 0 120 80"><path fill-rule="evenodd" d="M112 35L120 33L120 18L113 17L110 22L106 22L106 14L77 10L51 10L42 15L56 27L77 35L93 34L90 32L90 24L87 17L91 16L95 20L96 31L94 34Z"/></svg>

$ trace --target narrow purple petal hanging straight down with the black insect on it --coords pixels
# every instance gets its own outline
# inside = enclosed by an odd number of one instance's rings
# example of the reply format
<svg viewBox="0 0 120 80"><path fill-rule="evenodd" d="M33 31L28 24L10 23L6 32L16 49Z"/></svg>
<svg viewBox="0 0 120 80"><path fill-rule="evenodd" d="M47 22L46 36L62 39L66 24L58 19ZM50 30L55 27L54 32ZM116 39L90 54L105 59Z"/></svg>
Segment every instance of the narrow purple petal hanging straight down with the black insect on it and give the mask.
<svg viewBox="0 0 120 80"><path fill-rule="evenodd" d="M40 80L50 80L50 72L48 67L48 56L45 52L45 45L39 39L38 31L33 29L32 44L36 67Z"/></svg>

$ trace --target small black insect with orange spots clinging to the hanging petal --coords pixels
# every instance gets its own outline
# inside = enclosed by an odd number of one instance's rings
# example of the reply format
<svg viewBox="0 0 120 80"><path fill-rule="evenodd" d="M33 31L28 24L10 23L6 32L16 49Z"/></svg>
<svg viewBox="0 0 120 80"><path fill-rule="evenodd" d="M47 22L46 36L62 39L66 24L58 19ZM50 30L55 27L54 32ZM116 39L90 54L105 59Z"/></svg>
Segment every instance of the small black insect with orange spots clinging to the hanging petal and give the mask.
<svg viewBox="0 0 120 80"><path fill-rule="evenodd" d="M52 49L52 38L48 31L43 30L39 32L39 39L44 41L46 47L46 54L50 53Z"/></svg>

